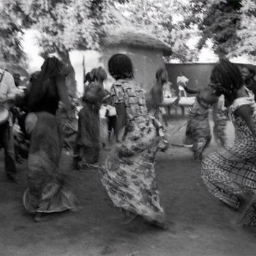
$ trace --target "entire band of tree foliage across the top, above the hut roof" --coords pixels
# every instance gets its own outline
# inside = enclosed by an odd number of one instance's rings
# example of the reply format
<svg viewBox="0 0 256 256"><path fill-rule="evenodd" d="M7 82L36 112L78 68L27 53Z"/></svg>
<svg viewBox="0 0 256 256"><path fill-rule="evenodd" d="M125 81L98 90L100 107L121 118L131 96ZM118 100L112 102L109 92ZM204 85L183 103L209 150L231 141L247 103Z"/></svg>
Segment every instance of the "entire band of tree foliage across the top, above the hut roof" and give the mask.
<svg viewBox="0 0 256 256"><path fill-rule="evenodd" d="M255 56L255 0L1 0L1 59L23 58L23 29L37 29L45 53L98 50L108 25L138 27L192 61L208 39L219 56ZM197 47L189 40L200 37Z"/></svg>

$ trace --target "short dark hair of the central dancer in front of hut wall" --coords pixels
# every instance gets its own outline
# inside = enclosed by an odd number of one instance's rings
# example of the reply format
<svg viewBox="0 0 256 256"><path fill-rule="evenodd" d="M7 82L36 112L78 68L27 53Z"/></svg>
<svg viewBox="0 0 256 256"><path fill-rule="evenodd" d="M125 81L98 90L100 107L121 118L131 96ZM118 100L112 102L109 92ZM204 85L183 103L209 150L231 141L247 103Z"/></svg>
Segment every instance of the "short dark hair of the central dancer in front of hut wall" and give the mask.
<svg viewBox="0 0 256 256"><path fill-rule="evenodd" d="M133 78L132 61L125 54L115 54L108 61L108 72L113 78Z"/></svg>

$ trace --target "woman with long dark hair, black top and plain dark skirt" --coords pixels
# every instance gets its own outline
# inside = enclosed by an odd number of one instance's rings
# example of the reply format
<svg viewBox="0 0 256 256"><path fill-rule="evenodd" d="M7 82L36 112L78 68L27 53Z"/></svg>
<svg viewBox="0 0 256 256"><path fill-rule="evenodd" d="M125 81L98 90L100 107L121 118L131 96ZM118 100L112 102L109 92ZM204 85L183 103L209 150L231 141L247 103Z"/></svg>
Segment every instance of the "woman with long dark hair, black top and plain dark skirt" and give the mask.
<svg viewBox="0 0 256 256"><path fill-rule="evenodd" d="M29 188L23 196L23 205L35 214L36 222L44 214L75 211L79 206L75 195L64 187L63 173L59 170L62 148L62 126L56 117L59 101L69 108L64 64L55 57L48 58L41 69L29 92L30 113L26 116L26 132L31 138L26 173Z"/></svg>

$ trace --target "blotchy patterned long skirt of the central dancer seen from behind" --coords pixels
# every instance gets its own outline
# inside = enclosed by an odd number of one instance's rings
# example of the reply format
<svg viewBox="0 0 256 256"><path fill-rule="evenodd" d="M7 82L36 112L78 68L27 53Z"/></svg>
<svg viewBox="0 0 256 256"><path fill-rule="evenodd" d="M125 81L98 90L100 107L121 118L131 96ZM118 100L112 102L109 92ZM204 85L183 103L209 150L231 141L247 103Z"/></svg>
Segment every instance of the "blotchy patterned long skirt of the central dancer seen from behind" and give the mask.
<svg viewBox="0 0 256 256"><path fill-rule="evenodd" d="M126 138L100 167L102 184L114 206L148 221L162 222L155 174L159 136L151 118L135 119Z"/></svg>

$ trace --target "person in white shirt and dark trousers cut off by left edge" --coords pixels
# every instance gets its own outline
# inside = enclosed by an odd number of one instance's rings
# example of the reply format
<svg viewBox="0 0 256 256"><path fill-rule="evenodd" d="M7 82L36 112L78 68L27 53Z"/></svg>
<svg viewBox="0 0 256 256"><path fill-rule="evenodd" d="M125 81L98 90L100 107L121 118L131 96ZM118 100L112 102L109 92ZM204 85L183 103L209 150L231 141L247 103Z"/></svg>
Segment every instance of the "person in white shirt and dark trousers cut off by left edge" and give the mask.
<svg viewBox="0 0 256 256"><path fill-rule="evenodd" d="M4 165L7 178L17 182L15 165L15 148L12 132L12 113L9 110L18 97L23 97L23 91L16 86L10 72L0 69L0 148L4 148Z"/></svg>

